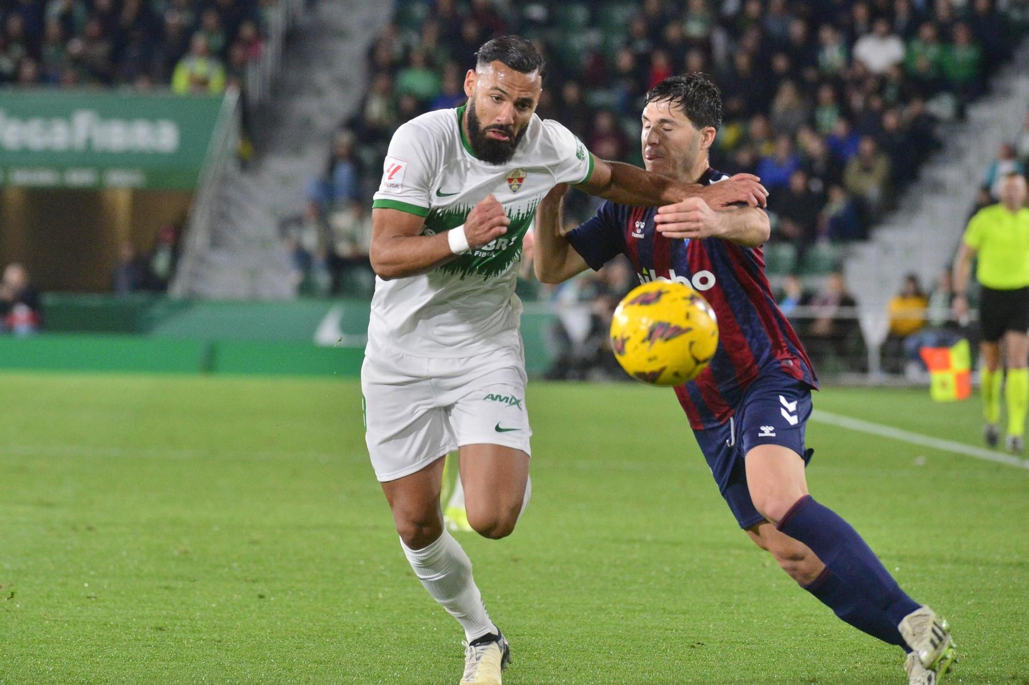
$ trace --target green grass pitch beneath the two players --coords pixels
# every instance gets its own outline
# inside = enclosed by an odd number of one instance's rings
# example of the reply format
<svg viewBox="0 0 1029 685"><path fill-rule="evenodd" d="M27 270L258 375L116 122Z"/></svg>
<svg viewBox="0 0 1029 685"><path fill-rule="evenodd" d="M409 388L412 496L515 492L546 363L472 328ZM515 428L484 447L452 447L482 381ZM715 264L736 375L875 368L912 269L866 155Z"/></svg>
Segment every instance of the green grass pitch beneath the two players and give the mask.
<svg viewBox="0 0 1029 685"><path fill-rule="evenodd" d="M507 685L906 682L736 528L670 391L530 384L533 500L460 538ZM356 382L0 375L0 682L454 684ZM979 444L977 400L816 408ZM1029 683L1029 471L812 424L812 493L947 615L949 683Z"/></svg>

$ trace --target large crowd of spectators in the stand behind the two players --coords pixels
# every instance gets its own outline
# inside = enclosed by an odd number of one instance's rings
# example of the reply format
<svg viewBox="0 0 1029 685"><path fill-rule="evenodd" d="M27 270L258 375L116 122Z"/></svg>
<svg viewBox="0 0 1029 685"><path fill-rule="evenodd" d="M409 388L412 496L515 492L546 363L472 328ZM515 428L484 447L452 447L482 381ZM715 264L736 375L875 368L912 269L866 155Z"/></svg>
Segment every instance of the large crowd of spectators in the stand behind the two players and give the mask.
<svg viewBox="0 0 1029 685"><path fill-rule="evenodd" d="M307 232L323 238L298 242L331 244L341 206L355 216L343 232L367 230L367 217L350 207L367 204L393 131L463 102L478 45L519 33L548 63L539 115L604 158L640 163L648 87L673 73L710 74L725 103L712 164L761 177L773 240L794 245L792 268L804 268L819 241L867 236L938 145L936 121L960 117L1014 49L1025 26L1018 8L1004 0L402 0L368 50L361 106L342 124L361 141L340 163L356 172L345 189L325 192L330 163L312 183ZM566 211L582 220L595 207L571 193ZM308 252L301 261L331 255Z"/></svg>

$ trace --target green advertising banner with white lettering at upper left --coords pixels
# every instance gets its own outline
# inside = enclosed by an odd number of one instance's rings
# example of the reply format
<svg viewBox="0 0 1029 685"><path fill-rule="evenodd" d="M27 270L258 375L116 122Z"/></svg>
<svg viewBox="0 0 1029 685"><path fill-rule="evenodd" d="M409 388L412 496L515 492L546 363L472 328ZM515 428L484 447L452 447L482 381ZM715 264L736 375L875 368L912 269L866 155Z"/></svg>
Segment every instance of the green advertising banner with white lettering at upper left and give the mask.
<svg viewBox="0 0 1029 685"><path fill-rule="evenodd" d="M220 96L0 91L0 186L197 186Z"/></svg>

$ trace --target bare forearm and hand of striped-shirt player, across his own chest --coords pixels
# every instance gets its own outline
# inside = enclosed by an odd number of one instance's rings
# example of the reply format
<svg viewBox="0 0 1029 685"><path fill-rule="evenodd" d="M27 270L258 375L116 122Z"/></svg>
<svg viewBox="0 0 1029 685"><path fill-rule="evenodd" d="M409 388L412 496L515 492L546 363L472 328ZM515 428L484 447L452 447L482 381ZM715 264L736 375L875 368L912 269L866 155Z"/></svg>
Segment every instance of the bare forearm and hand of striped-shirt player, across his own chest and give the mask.
<svg viewBox="0 0 1029 685"><path fill-rule="evenodd" d="M768 214L755 207L715 211L699 197L660 208L653 221L666 238L720 238L744 247L765 244L772 232Z"/></svg>

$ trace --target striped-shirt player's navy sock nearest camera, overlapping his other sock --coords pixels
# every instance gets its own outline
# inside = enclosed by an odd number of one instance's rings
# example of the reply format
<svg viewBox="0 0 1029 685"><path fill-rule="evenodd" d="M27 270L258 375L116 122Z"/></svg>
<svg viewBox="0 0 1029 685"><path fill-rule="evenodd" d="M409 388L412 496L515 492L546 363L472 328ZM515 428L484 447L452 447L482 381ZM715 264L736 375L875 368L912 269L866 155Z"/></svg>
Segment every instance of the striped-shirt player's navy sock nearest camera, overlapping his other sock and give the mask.
<svg viewBox="0 0 1029 685"><path fill-rule="evenodd" d="M790 507L778 528L811 547L832 575L883 611L893 625L919 608L857 531L810 495Z"/></svg>

